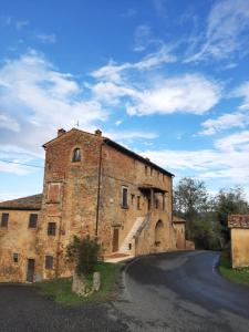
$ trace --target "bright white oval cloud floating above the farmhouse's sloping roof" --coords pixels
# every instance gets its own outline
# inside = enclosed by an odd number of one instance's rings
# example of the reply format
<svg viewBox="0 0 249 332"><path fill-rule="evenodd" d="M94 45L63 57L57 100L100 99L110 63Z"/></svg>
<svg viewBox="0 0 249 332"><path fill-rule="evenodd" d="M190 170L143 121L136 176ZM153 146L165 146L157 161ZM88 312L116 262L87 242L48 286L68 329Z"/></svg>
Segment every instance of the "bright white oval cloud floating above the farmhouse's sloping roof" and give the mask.
<svg viewBox="0 0 249 332"><path fill-rule="evenodd" d="M131 115L170 114L174 112L204 114L220 100L218 83L198 74L163 80L158 86L135 95L127 104Z"/></svg>

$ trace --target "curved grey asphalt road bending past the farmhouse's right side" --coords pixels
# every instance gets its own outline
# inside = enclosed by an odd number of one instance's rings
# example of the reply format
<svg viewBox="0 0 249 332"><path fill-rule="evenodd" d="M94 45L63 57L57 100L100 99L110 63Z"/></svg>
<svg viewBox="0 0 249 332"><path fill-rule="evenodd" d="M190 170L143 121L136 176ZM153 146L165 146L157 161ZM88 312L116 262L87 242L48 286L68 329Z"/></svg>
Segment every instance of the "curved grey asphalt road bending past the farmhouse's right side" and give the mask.
<svg viewBox="0 0 249 332"><path fill-rule="evenodd" d="M169 252L126 266L114 307L132 331L249 331L249 288L215 269L219 255Z"/></svg>

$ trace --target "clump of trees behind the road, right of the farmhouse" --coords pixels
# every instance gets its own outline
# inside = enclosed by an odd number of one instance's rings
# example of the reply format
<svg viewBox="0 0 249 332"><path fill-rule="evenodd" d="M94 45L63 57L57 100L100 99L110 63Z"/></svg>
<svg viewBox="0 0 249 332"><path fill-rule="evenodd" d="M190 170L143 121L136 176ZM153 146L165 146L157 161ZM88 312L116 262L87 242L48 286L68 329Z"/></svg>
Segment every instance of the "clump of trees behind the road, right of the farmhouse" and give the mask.
<svg viewBox="0 0 249 332"><path fill-rule="evenodd" d="M186 238L197 248L222 249L229 242L228 215L248 212L239 187L220 189L211 198L204 181L184 177L174 190L174 214L186 219Z"/></svg>

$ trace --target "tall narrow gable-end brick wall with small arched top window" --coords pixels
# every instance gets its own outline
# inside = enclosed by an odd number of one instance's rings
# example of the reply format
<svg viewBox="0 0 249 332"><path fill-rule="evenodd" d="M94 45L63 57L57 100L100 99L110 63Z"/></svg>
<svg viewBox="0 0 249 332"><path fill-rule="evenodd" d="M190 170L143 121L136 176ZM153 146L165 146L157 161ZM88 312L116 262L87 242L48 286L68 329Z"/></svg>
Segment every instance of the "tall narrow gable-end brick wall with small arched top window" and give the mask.
<svg viewBox="0 0 249 332"><path fill-rule="evenodd" d="M40 262L53 257L53 269L38 267L42 279L71 274L65 249L73 236L95 236L98 160L101 138L71 131L45 145L45 173L42 201L42 224L39 229ZM81 160L73 162L75 148ZM55 222L55 236L48 236L48 224Z"/></svg>

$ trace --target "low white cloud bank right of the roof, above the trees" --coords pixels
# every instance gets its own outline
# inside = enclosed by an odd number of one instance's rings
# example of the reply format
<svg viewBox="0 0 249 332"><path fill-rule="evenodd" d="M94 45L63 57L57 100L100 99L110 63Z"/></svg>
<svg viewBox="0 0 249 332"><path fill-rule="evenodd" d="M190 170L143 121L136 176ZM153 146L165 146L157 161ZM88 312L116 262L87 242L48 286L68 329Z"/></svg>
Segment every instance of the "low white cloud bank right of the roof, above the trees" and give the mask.
<svg viewBox="0 0 249 332"><path fill-rule="evenodd" d="M143 155L177 175L201 179L226 180L227 184L249 183L249 133L228 136L211 149L196 151L145 151Z"/></svg>

